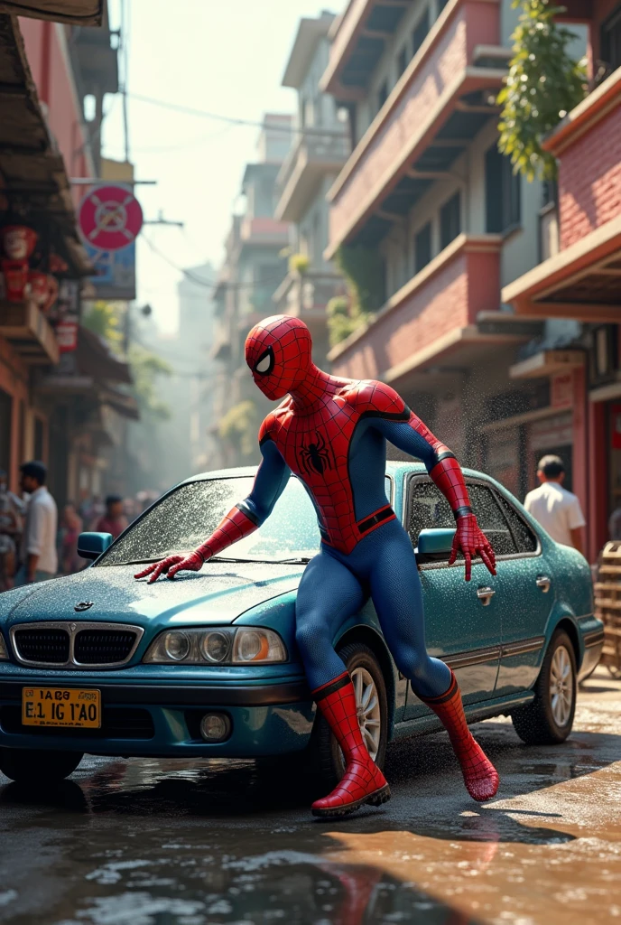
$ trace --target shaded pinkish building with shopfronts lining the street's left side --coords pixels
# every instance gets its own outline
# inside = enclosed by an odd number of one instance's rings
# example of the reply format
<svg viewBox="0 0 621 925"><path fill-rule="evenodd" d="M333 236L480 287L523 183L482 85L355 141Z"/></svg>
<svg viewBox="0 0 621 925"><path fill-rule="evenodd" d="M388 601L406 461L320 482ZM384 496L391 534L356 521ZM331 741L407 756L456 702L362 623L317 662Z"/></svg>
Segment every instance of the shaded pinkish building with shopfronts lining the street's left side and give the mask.
<svg viewBox="0 0 621 925"><path fill-rule="evenodd" d="M127 364L79 327L81 292L93 268L76 227L84 187L75 179L98 176L97 114L103 95L118 89L107 4L90 4L94 29L67 17L52 21L56 10L43 6L44 19L0 16L2 81L14 88L0 100L0 225L36 231L31 268L54 275L58 297L43 307L26 290L21 301L0 302L0 466L17 488L19 463L43 459L63 503L103 489L116 417L137 412L117 388L131 381ZM57 6L62 18L64 5ZM84 13L81 23L86 7ZM91 96L99 100L92 107Z"/></svg>

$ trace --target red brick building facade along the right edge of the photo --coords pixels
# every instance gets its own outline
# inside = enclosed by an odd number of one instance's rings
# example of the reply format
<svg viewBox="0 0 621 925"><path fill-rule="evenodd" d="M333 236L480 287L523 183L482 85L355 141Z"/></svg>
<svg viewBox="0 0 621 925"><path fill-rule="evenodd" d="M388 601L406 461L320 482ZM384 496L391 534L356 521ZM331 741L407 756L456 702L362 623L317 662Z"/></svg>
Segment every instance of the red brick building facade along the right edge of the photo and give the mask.
<svg viewBox="0 0 621 925"><path fill-rule="evenodd" d="M513 375L565 396L593 558L621 507L621 4L567 2L566 16L589 28L591 93L544 141L559 165L551 206L557 246L507 285L503 300L518 317L571 318L578 327L561 353L563 368L554 351L542 349Z"/></svg>

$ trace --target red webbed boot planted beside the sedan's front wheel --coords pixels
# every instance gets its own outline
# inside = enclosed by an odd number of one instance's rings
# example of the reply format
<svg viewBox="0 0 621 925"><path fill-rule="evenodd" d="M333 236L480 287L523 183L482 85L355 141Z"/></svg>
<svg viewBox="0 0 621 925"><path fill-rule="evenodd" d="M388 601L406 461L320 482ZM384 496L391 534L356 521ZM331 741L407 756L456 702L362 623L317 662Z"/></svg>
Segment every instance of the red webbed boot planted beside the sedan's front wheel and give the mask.
<svg viewBox="0 0 621 925"><path fill-rule="evenodd" d="M347 672L312 692L345 759L345 774L329 796L312 804L312 815L346 816L365 803L380 806L390 799L384 774L362 741L356 695Z"/></svg>

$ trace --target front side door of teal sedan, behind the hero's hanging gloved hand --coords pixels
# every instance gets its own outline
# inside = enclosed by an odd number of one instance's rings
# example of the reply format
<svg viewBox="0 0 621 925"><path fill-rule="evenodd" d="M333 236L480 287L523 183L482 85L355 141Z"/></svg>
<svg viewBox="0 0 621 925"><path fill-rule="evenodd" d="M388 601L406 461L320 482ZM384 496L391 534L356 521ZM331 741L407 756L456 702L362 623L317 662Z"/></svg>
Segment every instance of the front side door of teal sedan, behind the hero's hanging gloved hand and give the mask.
<svg viewBox="0 0 621 925"><path fill-rule="evenodd" d="M491 489L479 481L467 482L472 508L496 553L515 554L513 537L502 512L493 503ZM406 517L415 548L421 530L455 528L448 502L426 475L409 479ZM449 566L448 554L441 561L420 562L419 573L430 654L453 668L465 703L493 697L502 640L498 578L481 561L474 561L471 580L466 582L463 559ZM405 718L414 719L424 709L410 689Z"/></svg>

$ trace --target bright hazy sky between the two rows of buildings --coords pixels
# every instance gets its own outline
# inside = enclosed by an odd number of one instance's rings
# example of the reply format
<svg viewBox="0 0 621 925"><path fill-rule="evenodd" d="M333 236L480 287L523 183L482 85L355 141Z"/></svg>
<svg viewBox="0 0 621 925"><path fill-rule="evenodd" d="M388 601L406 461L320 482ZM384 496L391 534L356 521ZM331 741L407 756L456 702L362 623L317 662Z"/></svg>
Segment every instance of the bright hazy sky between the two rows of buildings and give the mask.
<svg viewBox="0 0 621 925"><path fill-rule="evenodd" d="M280 86L298 19L317 16L320 0L126 0L128 91L167 103L260 121L265 111L292 112L296 94ZM119 0L110 0L112 28ZM120 97L107 97L103 153L123 159ZM130 157L145 217L160 210L178 228L147 227L143 236L179 266L217 265L239 193L244 164L255 156L258 128L231 127L128 101ZM139 240L139 302L150 302L163 330L177 325L180 274Z"/></svg>

